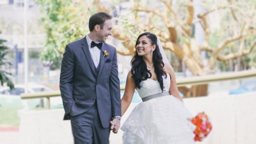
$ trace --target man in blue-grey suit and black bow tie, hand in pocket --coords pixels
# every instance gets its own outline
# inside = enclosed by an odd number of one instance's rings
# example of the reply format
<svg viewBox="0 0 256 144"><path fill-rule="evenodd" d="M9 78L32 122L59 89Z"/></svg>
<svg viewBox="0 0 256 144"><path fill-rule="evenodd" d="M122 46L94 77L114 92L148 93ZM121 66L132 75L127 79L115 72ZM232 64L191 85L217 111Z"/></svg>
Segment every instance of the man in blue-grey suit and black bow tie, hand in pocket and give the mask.
<svg viewBox="0 0 256 144"><path fill-rule="evenodd" d="M120 126L117 54L105 43L111 19L104 12L92 15L90 33L69 43L63 54L59 87L75 143L109 143L110 131L117 133Z"/></svg>

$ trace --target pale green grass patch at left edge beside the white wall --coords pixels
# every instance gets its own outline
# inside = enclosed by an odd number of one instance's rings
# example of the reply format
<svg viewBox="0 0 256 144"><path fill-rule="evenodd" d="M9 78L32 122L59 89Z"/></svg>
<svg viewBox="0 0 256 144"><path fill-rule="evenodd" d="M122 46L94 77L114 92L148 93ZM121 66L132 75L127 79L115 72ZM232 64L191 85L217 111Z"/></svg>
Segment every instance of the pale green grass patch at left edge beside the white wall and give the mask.
<svg viewBox="0 0 256 144"><path fill-rule="evenodd" d="M0 127L18 127L20 108L0 107Z"/></svg>

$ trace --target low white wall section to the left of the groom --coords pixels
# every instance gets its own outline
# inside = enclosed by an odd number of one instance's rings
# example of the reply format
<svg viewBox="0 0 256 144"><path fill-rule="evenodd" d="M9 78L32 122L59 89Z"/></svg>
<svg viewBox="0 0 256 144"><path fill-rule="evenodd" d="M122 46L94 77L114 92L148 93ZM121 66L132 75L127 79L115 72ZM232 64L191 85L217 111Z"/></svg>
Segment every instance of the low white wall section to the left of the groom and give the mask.
<svg viewBox="0 0 256 144"><path fill-rule="evenodd" d="M20 143L73 143L70 121L63 121L64 109L21 110Z"/></svg>

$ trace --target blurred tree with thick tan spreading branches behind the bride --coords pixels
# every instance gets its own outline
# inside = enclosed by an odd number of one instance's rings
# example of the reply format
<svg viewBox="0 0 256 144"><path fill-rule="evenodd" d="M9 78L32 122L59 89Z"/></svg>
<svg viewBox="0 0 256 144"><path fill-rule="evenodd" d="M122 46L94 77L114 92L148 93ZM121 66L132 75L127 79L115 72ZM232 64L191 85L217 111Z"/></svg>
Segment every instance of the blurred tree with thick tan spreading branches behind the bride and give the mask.
<svg viewBox="0 0 256 144"><path fill-rule="evenodd" d="M228 0L212 7L213 2L208 1L203 3L205 11L197 16L194 16L195 4L192 0L156 1L154 5L146 2L133 1L130 15L119 16L126 21L126 27L120 22L113 36L122 40L128 50L119 51L120 54L133 54L133 34L137 36L138 32L151 31L160 37L164 49L172 51L196 76L214 74L217 60L226 62L248 55L256 45L255 34L250 33L256 24L256 6L253 2ZM99 10L106 10L97 4ZM214 16L219 17L216 18L219 22L215 23L221 26L218 29L210 23L215 22L212 19ZM200 23L204 31L202 44L195 40L196 23ZM218 35L216 39L211 39L213 33ZM227 53L228 49L231 51ZM207 52L208 64L203 63L203 51Z"/></svg>

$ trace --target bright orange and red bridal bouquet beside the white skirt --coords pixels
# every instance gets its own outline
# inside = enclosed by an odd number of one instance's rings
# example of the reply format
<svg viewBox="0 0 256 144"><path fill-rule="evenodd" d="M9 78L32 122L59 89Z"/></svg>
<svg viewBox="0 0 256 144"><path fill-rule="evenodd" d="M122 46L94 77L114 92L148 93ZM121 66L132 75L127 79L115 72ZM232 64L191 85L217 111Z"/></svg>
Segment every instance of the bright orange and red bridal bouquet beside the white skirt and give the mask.
<svg viewBox="0 0 256 144"><path fill-rule="evenodd" d="M196 117L191 118L191 122L196 125L194 130L194 134L196 134L195 141L202 141L212 129L208 116L204 112L198 113Z"/></svg>

